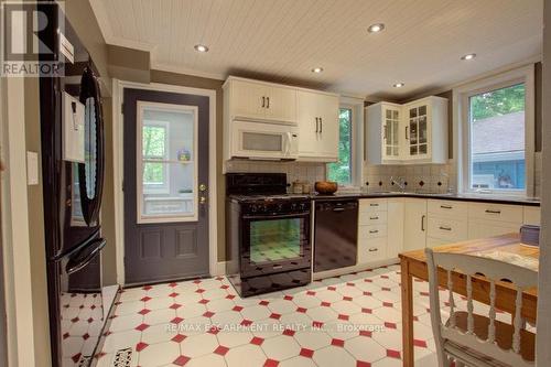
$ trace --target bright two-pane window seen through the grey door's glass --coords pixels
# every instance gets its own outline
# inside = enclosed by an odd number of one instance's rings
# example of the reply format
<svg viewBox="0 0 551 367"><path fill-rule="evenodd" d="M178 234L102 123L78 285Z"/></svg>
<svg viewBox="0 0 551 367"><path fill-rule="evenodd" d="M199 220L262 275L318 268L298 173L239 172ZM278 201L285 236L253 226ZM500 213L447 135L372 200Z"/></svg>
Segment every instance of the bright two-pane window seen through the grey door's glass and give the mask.
<svg viewBox="0 0 551 367"><path fill-rule="evenodd" d="M143 121L142 159L145 193L169 190L168 158L169 126L163 121ZM156 162L159 161L159 162Z"/></svg>

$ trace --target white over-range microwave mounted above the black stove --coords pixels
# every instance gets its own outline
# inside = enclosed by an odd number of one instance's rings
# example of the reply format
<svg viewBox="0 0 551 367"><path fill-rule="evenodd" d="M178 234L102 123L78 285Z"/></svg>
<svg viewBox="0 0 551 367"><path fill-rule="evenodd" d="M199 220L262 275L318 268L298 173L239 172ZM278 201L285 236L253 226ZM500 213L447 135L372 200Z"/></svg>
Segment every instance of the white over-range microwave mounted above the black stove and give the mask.
<svg viewBox="0 0 551 367"><path fill-rule="evenodd" d="M231 156L256 160L299 158L296 123L231 121Z"/></svg>

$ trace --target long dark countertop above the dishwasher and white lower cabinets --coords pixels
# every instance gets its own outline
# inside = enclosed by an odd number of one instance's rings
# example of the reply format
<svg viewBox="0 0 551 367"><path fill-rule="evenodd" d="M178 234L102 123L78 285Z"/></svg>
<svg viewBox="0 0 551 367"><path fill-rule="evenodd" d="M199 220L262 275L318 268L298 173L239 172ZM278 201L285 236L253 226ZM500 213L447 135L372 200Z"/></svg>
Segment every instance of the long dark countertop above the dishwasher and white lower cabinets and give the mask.
<svg viewBox="0 0 551 367"><path fill-rule="evenodd" d="M419 197L419 198L434 198L444 201L460 201L460 202L478 202L478 203L494 203L494 204L508 204L508 205L526 205L526 206L540 206L539 198L525 198L525 197L495 197L485 196L485 194L423 194L423 193L400 193L400 192L372 192L372 193L335 193L333 195L312 195L312 199L344 199L344 198L388 198L388 197Z"/></svg>

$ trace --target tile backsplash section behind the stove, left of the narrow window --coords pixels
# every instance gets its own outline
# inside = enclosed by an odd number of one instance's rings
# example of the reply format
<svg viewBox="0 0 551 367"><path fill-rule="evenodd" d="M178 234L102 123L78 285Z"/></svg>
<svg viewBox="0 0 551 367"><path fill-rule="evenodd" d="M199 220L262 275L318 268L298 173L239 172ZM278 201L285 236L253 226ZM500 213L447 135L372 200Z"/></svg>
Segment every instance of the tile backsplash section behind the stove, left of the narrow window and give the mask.
<svg viewBox="0 0 551 367"><path fill-rule="evenodd" d="M231 160L225 164L226 172L287 173L289 183L300 180L313 185L325 180L325 163Z"/></svg>

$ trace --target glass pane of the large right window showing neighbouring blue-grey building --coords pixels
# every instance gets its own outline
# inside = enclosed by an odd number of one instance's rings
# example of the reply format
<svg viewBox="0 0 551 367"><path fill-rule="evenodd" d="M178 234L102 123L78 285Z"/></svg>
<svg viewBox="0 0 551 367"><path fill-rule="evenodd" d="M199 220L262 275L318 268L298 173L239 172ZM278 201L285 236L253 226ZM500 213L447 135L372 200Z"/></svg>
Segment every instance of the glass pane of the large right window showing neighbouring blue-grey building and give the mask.
<svg viewBox="0 0 551 367"><path fill-rule="evenodd" d="M526 188L525 84L469 98L471 188Z"/></svg>

